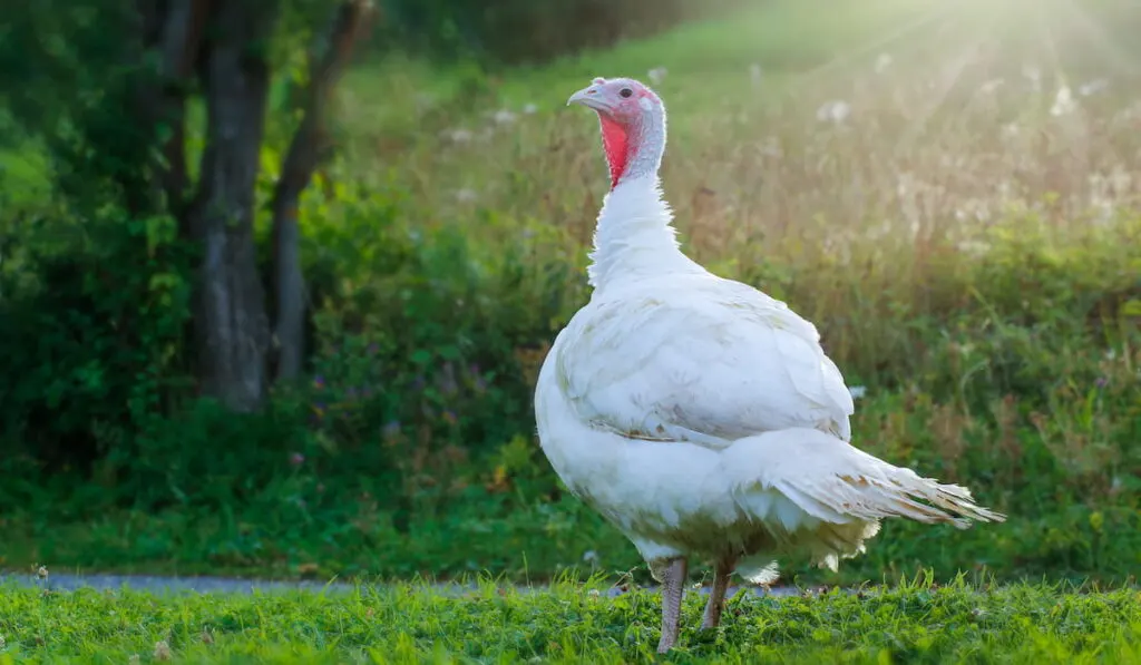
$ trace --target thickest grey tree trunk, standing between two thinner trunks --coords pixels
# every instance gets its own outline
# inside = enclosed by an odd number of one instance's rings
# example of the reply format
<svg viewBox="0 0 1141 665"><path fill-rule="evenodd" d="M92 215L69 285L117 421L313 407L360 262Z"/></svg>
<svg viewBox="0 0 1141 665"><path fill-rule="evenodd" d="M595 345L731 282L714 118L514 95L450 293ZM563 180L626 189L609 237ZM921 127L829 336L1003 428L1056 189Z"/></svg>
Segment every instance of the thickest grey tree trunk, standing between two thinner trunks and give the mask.
<svg viewBox="0 0 1141 665"><path fill-rule="evenodd" d="M266 394L268 322L256 266L253 196L276 0L218 2L201 62L207 145L189 228L201 243L195 338L202 392L235 411Z"/></svg>

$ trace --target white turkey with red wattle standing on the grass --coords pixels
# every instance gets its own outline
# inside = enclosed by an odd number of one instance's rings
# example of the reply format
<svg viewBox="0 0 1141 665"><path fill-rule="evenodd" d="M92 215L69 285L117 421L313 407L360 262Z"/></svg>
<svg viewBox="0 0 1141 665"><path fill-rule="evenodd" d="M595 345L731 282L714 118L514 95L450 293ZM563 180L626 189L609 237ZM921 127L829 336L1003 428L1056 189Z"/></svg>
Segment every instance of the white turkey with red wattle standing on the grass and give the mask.
<svg viewBox="0 0 1141 665"><path fill-rule="evenodd" d="M540 371L539 437L567 487L662 583L658 651L678 639L689 558L713 565L707 628L734 571L768 584L783 555L835 570L887 517L960 528L1005 519L963 487L848 444L851 394L816 327L681 252L657 175L657 95L632 79L594 79L567 104L598 113L610 192L590 302Z"/></svg>

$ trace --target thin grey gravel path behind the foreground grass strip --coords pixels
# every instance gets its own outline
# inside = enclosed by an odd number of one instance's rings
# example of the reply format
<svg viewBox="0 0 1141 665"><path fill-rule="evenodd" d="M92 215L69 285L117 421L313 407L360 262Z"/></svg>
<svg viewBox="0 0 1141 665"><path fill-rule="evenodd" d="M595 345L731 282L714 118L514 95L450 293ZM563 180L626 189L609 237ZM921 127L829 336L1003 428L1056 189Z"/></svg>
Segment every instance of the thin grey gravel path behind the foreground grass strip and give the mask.
<svg viewBox="0 0 1141 665"><path fill-rule="evenodd" d="M313 581L269 581L269 579L241 579L236 577L168 577L160 575L75 575L68 573L51 573L47 579L39 579L34 575L2 574L0 573L0 586L15 584L25 587L43 587L55 591L72 591L75 589L91 587L98 590L119 590L124 586L133 591L147 591L156 594L170 593L282 593L291 591L307 591L311 593L348 593L356 589L354 584L343 582L313 582ZM462 593L467 589L476 585L462 586L455 584L434 584L440 593ZM545 586L518 586L523 592L543 591ZM730 590L736 593L738 587ZM793 586L774 587L768 591L759 587L745 587L746 592L758 595L795 595L801 590ZM616 597L625 593L618 587L607 589L605 594ZM707 594L709 589L702 587L702 594Z"/></svg>

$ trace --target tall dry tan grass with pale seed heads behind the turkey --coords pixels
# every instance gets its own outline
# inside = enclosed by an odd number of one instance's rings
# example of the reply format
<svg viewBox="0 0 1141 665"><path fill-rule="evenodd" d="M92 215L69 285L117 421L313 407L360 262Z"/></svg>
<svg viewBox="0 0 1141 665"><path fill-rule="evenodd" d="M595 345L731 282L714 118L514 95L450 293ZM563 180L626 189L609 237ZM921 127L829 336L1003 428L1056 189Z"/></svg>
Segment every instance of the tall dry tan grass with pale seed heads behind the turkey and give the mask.
<svg viewBox="0 0 1141 665"><path fill-rule="evenodd" d="M979 276L1022 241L1125 302L1141 274L1141 89L988 78L985 64L666 76L662 177L686 251L787 299L868 379L917 370L912 324L978 307ZM350 163L364 177L386 167L418 224L581 267L606 192L597 123L526 111L426 112L427 132L365 130Z"/></svg>

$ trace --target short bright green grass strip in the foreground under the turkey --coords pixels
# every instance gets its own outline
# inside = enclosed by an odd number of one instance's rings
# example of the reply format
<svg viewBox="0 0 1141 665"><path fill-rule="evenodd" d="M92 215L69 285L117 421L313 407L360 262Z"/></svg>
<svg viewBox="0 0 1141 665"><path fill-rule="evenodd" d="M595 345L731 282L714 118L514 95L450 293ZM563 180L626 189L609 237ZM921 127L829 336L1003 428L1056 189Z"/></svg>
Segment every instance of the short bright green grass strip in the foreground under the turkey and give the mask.
<svg viewBox="0 0 1141 665"><path fill-rule="evenodd" d="M0 590L0 664L14 663L636 663L655 659L656 593L617 599L560 583L525 594L483 583L339 594L153 597L129 591ZM868 589L730 601L701 634L687 597L670 663L1141 662L1141 595L1041 585Z"/></svg>

